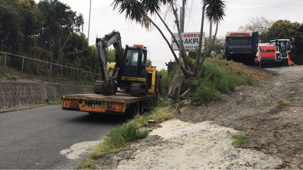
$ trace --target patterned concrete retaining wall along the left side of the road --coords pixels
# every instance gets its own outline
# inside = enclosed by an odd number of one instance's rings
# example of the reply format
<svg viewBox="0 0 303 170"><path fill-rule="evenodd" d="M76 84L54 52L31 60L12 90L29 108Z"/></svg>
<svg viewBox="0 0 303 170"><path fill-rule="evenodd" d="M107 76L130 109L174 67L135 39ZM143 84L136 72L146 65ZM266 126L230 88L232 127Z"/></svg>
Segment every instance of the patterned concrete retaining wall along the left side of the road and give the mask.
<svg viewBox="0 0 303 170"><path fill-rule="evenodd" d="M47 82L0 81L0 107L58 101L62 95L85 93L93 93L93 88Z"/></svg>

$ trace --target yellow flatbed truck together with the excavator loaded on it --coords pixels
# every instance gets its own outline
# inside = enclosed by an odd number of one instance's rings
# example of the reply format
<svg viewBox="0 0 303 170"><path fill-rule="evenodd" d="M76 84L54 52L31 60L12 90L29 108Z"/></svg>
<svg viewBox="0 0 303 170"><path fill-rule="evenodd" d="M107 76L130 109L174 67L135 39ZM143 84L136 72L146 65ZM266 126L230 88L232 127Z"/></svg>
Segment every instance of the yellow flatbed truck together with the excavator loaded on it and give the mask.
<svg viewBox="0 0 303 170"><path fill-rule="evenodd" d="M113 45L115 63L107 62L105 48ZM147 50L141 44L125 45L121 36L112 31L96 38L101 80L94 84L93 94L62 95L62 110L84 111L89 114L139 114L150 101L157 100L158 79L155 66L146 66Z"/></svg>

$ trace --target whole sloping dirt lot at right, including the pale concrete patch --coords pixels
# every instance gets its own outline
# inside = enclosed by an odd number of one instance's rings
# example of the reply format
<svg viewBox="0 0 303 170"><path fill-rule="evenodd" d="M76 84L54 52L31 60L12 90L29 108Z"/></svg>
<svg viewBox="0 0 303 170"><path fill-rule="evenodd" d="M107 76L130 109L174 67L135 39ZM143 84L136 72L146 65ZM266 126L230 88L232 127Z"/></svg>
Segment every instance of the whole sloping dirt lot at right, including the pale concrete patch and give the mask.
<svg viewBox="0 0 303 170"><path fill-rule="evenodd" d="M302 169L303 67L266 72L273 77L256 86L237 87L207 106L181 108L177 120L161 123L162 127L127 151L103 156L97 167ZM292 106L278 102L281 98ZM232 146L232 134L248 129L248 148Z"/></svg>

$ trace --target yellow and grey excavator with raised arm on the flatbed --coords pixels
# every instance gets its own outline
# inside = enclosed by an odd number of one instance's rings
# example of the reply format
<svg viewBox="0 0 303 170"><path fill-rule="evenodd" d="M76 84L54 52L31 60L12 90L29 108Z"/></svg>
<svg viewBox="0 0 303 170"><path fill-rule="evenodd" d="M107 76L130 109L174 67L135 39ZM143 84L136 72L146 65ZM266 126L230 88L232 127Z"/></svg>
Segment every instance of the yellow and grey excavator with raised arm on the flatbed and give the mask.
<svg viewBox="0 0 303 170"><path fill-rule="evenodd" d="M105 49L111 45L115 49L115 63L107 62ZM120 33L115 30L102 38L97 37L95 46L102 76L102 80L94 84L96 94L113 95L118 88L135 97L157 93L158 71L156 67L146 66L146 47L125 45L123 53Z"/></svg>

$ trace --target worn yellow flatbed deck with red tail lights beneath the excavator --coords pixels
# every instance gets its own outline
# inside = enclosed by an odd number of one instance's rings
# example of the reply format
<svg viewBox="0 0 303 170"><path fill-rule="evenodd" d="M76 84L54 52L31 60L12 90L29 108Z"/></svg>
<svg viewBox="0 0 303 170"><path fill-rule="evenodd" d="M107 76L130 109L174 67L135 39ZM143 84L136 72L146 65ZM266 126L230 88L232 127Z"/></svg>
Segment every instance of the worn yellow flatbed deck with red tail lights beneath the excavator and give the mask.
<svg viewBox="0 0 303 170"><path fill-rule="evenodd" d="M148 101L155 95L134 97L130 94L116 93L115 95L78 94L63 95L61 100L62 110L84 111L90 114L125 114L130 111L134 114L143 113Z"/></svg>

